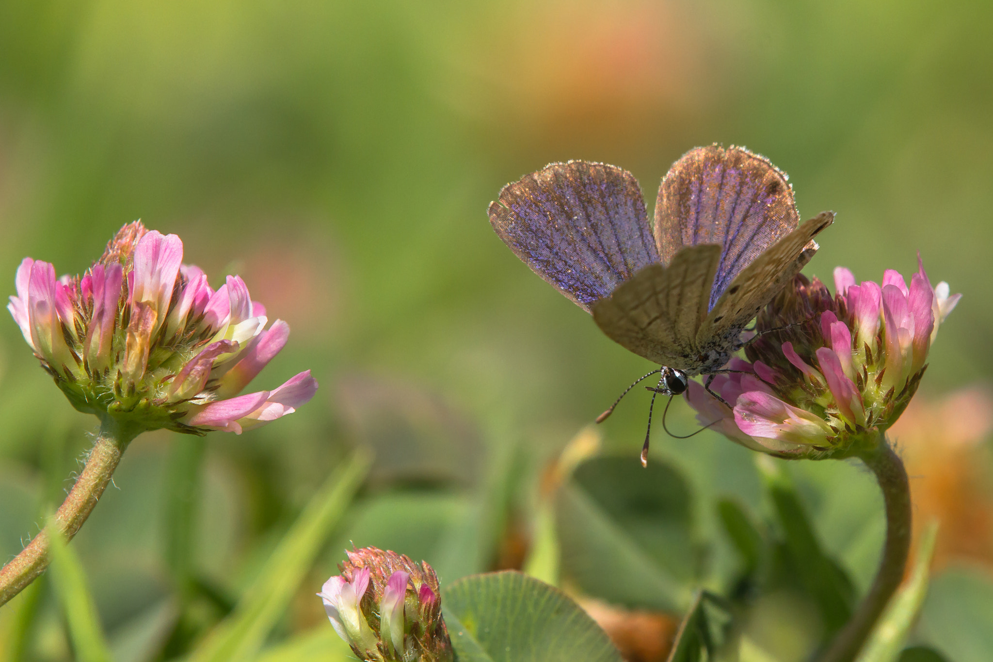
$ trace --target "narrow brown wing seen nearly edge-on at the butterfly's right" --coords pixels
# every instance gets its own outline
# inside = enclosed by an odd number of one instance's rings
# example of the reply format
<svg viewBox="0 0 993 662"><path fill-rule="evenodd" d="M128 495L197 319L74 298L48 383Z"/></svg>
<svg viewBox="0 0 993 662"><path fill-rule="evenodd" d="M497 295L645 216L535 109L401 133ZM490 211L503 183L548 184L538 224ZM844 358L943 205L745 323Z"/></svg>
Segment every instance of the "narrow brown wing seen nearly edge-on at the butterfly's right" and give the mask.
<svg viewBox="0 0 993 662"><path fill-rule="evenodd" d="M699 346L733 335L751 321L817 252L813 237L834 222L822 211L780 239L739 274L714 306L697 334Z"/></svg>

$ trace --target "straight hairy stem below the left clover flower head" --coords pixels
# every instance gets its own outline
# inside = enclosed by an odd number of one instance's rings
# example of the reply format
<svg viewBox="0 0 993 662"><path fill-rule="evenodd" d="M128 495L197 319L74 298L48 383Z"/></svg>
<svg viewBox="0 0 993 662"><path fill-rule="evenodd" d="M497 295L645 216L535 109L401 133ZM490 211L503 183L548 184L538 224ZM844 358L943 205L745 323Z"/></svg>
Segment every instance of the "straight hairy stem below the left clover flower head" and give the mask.
<svg viewBox="0 0 993 662"><path fill-rule="evenodd" d="M75 535L103 493L120 462L121 454L140 430L122 427L107 417L100 426L82 473L66 500L56 511L59 530L69 541ZM43 529L17 557L0 570L0 605L21 593L49 566L49 536Z"/></svg>

